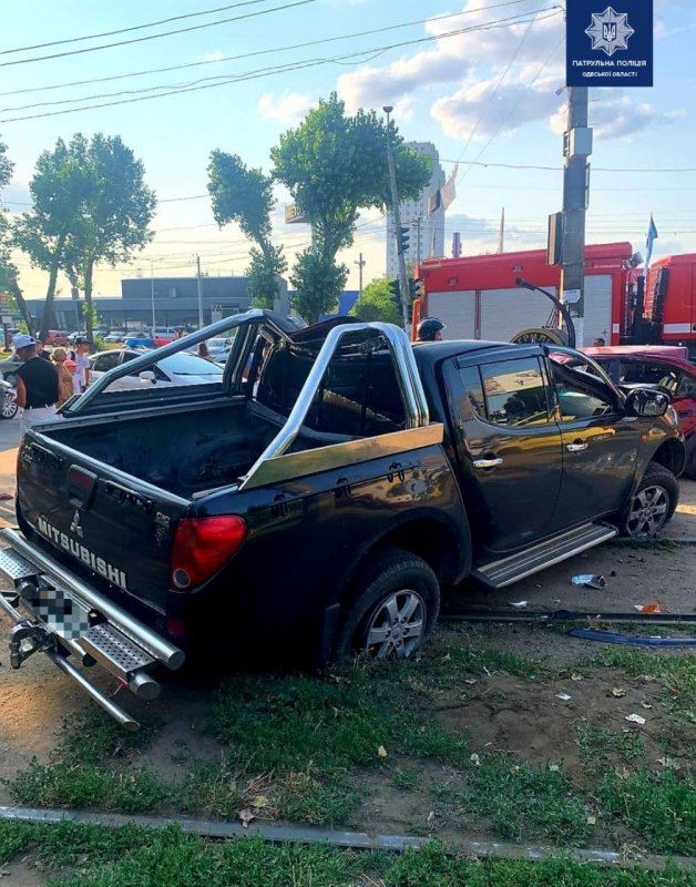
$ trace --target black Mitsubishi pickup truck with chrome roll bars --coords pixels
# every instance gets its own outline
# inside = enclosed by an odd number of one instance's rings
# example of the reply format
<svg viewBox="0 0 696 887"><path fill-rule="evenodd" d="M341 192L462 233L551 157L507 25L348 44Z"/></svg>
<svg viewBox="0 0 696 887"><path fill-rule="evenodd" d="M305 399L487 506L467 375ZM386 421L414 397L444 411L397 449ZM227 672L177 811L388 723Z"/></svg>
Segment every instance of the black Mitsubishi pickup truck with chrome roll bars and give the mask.
<svg viewBox="0 0 696 887"><path fill-rule="evenodd" d="M219 381L157 381L157 360L219 335ZM133 727L88 666L151 699L187 653L408 656L441 589L658 531L683 467L668 397L622 392L576 351L237 315L27 432L0 551L11 664L47 653Z"/></svg>

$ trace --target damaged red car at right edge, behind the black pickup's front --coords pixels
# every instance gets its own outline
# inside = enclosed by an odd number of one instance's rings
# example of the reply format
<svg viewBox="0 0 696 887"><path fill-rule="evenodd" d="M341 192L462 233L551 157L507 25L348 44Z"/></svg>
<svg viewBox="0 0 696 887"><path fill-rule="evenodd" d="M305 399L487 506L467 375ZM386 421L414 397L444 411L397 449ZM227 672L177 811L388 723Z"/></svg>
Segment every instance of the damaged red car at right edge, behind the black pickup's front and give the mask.
<svg viewBox="0 0 696 887"><path fill-rule="evenodd" d="M582 350L620 385L658 385L669 392L686 438L684 475L696 480L696 366L686 359L686 348L613 345Z"/></svg>

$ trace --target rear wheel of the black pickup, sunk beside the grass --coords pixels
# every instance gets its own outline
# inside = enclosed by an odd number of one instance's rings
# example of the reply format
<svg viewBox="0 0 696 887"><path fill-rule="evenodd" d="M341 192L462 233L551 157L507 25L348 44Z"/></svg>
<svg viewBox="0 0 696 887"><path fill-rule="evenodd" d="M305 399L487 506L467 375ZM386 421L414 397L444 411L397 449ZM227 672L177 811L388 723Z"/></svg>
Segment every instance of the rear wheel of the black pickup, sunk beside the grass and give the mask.
<svg viewBox="0 0 696 887"><path fill-rule="evenodd" d="M376 660L409 659L420 650L440 610L440 583L424 560L387 549L358 574L354 589L358 597L347 609L336 643L338 662L359 653Z"/></svg>

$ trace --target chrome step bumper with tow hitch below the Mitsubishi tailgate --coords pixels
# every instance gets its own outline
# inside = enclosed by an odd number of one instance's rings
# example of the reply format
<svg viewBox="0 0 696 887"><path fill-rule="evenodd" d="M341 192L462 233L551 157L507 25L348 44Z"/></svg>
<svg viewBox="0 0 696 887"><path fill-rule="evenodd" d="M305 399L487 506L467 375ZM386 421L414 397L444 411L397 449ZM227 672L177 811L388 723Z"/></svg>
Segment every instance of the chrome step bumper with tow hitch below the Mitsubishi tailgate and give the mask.
<svg viewBox="0 0 696 887"><path fill-rule="evenodd" d="M0 590L0 610L16 623L10 634L12 667L19 669L33 653L45 653L120 724L136 730L137 722L68 656L88 667L99 663L136 696L152 700L160 685L150 671L158 663L172 670L181 667L183 652L17 530L2 530L0 538L10 546L0 550L0 573L13 588Z"/></svg>

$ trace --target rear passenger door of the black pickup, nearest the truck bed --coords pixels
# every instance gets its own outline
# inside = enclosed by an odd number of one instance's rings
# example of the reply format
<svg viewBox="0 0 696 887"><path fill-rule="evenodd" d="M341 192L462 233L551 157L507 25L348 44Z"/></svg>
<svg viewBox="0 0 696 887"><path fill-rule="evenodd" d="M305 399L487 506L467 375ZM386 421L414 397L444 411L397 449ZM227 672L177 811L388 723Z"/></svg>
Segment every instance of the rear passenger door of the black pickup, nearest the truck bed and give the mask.
<svg viewBox="0 0 696 887"><path fill-rule="evenodd" d="M446 367L471 531L495 553L550 534L561 488L545 365L534 349L524 351L480 365L461 356Z"/></svg>

